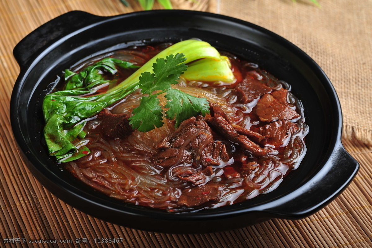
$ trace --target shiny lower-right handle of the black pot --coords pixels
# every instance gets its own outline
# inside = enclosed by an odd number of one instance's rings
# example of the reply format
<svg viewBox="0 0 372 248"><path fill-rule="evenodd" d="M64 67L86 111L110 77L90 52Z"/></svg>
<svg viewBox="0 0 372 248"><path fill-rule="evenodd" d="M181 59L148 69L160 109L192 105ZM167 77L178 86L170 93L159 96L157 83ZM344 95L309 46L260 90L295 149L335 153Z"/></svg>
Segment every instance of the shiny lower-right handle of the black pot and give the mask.
<svg viewBox="0 0 372 248"><path fill-rule="evenodd" d="M264 212L272 214L274 218L283 219L302 219L310 216L339 196L358 170L359 163L340 142L317 176L302 185L296 193L279 199L277 206Z"/></svg>

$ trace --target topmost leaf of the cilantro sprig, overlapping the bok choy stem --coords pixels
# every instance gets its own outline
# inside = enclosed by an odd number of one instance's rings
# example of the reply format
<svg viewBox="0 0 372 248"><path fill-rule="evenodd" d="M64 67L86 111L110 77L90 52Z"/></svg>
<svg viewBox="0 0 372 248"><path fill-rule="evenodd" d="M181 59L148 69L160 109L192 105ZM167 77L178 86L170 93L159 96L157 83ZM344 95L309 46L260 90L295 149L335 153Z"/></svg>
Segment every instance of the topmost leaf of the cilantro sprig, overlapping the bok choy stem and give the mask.
<svg viewBox="0 0 372 248"><path fill-rule="evenodd" d="M177 84L180 75L186 71L185 65L186 58L183 54L169 55L164 58L156 59L153 64L153 74L149 72L142 73L140 77L140 87L142 94L151 94L155 90L167 90L171 84Z"/></svg>

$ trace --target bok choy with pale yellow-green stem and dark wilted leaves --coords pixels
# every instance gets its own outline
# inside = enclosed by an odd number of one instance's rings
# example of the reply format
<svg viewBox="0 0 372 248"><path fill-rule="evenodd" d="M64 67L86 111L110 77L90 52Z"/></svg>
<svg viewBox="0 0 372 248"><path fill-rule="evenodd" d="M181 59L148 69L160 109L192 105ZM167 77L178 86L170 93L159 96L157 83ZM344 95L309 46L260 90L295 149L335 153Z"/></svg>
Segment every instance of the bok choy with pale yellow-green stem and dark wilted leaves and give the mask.
<svg viewBox="0 0 372 248"><path fill-rule="evenodd" d="M157 59L181 53L187 58L185 64L195 61L183 74L186 79L220 80L227 83L234 80L228 59L222 57L217 49L207 42L198 40L181 41L164 49L126 80L103 94L91 96L97 89L112 83L105 79L105 75L115 74L118 68L131 70L137 66L130 62L106 58L80 73L66 70L65 90L45 96L42 106L46 122L44 136L49 154L56 156L59 162L76 160L89 154L90 151L84 142L74 142L84 138L83 128L86 119L133 93L139 87L141 74L153 73L153 64Z"/></svg>

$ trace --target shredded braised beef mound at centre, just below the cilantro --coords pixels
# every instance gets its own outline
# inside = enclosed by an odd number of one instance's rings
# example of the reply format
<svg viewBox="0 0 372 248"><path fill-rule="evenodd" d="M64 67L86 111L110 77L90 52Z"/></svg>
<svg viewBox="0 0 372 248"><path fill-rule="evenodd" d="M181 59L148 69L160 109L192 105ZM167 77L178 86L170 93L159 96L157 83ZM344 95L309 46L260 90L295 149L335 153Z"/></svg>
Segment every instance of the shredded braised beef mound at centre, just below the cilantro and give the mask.
<svg viewBox="0 0 372 248"><path fill-rule="evenodd" d="M219 158L213 157L214 147L211 128L204 117L191 117L158 144L158 148L163 151L154 156L153 162L164 168L176 163L192 163L194 167L219 165ZM181 153L183 156L179 159Z"/></svg>

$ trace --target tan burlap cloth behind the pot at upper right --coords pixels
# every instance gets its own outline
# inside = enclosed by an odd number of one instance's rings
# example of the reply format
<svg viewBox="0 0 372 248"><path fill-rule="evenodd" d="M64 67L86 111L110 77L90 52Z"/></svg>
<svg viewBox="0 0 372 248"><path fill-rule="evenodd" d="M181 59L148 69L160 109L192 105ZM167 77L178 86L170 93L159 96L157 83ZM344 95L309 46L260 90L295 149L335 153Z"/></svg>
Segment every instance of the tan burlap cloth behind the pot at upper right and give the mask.
<svg viewBox="0 0 372 248"><path fill-rule="evenodd" d="M305 51L340 98L344 137L372 144L372 1L217 1L217 12L269 29Z"/></svg>

